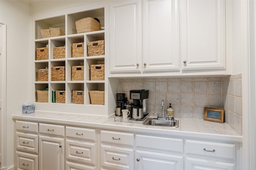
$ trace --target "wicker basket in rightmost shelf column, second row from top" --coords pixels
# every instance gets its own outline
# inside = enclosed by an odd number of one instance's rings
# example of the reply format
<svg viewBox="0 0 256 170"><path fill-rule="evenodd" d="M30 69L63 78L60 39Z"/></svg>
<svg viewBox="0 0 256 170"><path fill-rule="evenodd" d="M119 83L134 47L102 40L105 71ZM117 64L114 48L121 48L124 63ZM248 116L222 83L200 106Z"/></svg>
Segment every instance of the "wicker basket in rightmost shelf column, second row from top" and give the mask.
<svg viewBox="0 0 256 170"><path fill-rule="evenodd" d="M87 45L88 56L104 55L104 40L92 41Z"/></svg>

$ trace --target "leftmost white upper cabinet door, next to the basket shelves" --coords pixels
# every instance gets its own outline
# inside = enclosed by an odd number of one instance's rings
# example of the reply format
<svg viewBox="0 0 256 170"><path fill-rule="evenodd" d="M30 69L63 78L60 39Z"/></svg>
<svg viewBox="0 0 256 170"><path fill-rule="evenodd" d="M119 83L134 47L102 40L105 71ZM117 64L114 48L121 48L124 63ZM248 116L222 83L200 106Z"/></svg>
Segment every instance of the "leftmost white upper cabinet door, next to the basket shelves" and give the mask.
<svg viewBox="0 0 256 170"><path fill-rule="evenodd" d="M110 4L110 72L142 71L141 1Z"/></svg>

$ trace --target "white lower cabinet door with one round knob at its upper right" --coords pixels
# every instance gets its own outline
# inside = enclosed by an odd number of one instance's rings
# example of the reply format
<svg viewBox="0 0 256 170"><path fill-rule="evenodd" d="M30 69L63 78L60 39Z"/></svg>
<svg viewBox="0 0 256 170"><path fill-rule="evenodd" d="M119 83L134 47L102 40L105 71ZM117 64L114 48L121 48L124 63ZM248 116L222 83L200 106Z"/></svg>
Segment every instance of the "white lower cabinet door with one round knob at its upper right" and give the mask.
<svg viewBox="0 0 256 170"><path fill-rule="evenodd" d="M64 138L39 135L39 170L64 170Z"/></svg>

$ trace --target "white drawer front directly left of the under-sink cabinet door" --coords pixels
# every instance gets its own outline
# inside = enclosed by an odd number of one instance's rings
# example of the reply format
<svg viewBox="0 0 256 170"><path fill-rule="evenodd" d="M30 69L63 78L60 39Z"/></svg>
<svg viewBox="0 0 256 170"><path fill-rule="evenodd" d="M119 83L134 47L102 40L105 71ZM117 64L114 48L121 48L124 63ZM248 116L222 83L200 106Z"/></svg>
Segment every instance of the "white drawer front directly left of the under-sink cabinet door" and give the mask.
<svg viewBox="0 0 256 170"><path fill-rule="evenodd" d="M101 165L110 169L134 170L134 149L101 145Z"/></svg>

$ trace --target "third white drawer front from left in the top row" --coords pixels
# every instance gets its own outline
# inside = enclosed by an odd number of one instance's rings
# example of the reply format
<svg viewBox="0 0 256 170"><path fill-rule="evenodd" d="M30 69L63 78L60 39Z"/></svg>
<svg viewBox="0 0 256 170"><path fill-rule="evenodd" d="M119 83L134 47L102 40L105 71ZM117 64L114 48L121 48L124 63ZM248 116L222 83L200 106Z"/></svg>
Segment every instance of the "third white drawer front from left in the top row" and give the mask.
<svg viewBox="0 0 256 170"><path fill-rule="evenodd" d="M76 140L89 140L95 142L96 130L66 126L66 137L75 138Z"/></svg>

